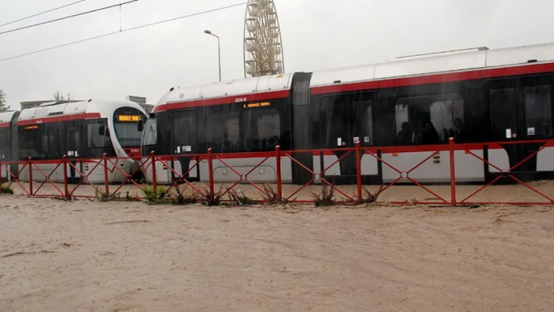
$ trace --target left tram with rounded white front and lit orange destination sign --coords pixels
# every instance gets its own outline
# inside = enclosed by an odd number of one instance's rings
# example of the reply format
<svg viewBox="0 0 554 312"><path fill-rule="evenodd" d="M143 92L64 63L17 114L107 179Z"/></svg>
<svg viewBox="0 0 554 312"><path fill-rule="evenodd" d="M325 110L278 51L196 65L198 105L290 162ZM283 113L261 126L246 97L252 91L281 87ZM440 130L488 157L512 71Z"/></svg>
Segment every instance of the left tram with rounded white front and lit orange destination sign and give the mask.
<svg viewBox="0 0 554 312"><path fill-rule="evenodd" d="M144 120L145 110L131 101L53 101L37 108L3 112L0 161L11 163L9 170L14 176L19 173L19 181L29 181L29 165L13 162L30 157L37 161L31 166L33 181L42 182L44 175L50 175L50 180L61 183L64 169L57 162L65 155L69 183L80 181L80 173L92 183L102 183L104 167L95 162L100 162L104 153L113 158L140 156ZM121 182L125 178L121 171L130 174L138 163L130 158L112 161L108 165L109 182ZM12 177L7 170L2 166L3 179Z"/></svg>

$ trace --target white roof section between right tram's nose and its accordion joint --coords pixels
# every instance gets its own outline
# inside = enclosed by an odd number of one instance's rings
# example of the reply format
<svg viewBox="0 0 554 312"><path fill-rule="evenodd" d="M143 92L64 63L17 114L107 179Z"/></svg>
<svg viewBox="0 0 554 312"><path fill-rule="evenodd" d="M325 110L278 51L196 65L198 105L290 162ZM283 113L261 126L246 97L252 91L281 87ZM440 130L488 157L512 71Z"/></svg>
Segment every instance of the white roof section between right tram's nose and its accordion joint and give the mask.
<svg viewBox="0 0 554 312"><path fill-rule="evenodd" d="M293 73L271 76L235 79L212 84L197 85L175 89L166 93L158 104L175 103L191 100L219 98L222 96L265 93L288 90L293 79Z"/></svg>

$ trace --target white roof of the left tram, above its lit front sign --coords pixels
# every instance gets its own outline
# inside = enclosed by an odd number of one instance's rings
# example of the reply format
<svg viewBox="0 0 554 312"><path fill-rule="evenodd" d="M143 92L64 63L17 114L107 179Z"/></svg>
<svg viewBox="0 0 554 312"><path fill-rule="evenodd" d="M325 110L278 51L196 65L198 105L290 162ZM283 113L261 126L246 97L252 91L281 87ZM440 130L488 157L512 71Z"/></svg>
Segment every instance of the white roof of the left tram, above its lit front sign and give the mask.
<svg viewBox="0 0 554 312"><path fill-rule="evenodd" d="M49 102L35 108L28 108L21 111L18 120L39 119L48 116L63 116L98 112L102 117L107 117L113 110L123 106L136 108L146 115L146 112L139 104L131 101L79 101L79 102Z"/></svg>

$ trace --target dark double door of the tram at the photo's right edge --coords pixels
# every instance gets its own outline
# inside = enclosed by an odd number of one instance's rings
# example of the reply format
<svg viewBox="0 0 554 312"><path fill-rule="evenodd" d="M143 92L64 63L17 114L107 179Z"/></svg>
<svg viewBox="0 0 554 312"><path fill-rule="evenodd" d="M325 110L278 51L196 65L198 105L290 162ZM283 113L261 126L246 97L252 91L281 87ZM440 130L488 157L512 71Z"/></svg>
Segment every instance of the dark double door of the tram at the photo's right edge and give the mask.
<svg viewBox="0 0 554 312"><path fill-rule="evenodd" d="M485 98L490 108L491 134L494 141L507 152L510 167L516 177L536 180L537 156L526 158L543 145L533 140L551 139L552 134L552 86L551 78L534 77L489 81ZM514 141L529 143L509 144ZM489 155L491 153L489 152ZM489 157L490 158L490 157ZM494 160L491 160L494 163Z"/></svg>

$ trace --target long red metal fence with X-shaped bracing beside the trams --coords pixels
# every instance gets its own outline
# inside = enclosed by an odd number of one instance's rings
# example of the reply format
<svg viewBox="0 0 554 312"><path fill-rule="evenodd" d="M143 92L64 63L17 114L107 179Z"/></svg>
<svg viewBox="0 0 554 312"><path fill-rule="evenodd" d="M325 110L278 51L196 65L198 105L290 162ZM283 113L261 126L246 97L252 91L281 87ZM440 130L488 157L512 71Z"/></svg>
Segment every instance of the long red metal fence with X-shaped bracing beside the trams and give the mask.
<svg viewBox="0 0 554 312"><path fill-rule="evenodd" d="M529 143L529 141L524 142ZM59 197L59 198L98 198L100 200L134 200L136 198L145 198L145 187L150 190L151 194L156 196L162 191L166 197L183 197L187 194L187 198L193 198L194 201L229 201L237 193L245 195L243 198L248 198L250 202L299 202L313 203L321 201L322 187L327 187L328 191L334 193L333 197L327 196L326 200L331 200L333 203L344 204L361 204L361 203L393 203L393 204L437 204L444 206L474 206L476 204L554 204L554 189L546 184L535 185L533 183L524 182L516 177L515 170L522 166L525 162L535 157L540 151L548 146L553 146L550 141L539 141L536 143L542 146L526 156L520 162L509 168L502 169L500 165L491 163L484 156L479 155L475 150L483 150L487 146L494 144L475 144L464 145L454 144L450 139L447 145L437 145L429 147L429 149L419 153L417 157L421 159L413 159L416 165L411 165L409 168L399 168L398 165L391 163L391 158L386 159L382 156L383 152L387 155L402 154L402 149L397 147L361 147L356 144L352 149L338 150L306 150L306 151L281 151L280 147L276 147L273 152L265 152L256 154L257 165L237 167L230 164L232 159L240 159L242 157L253 157L253 154L214 154L211 149L206 154L198 155L170 155L158 156L153 152L150 156L143 157L120 157L109 158L105 155L100 159L74 159L66 158L56 161L35 161L29 158L27 161L19 162L0 162L0 178L4 186L10 188L18 187L19 193L27 196L37 197ZM504 142L502 144L505 144ZM521 142L512 142L510 144L521 144ZM340 156L336 156L336 160L331 163L325 163L324 158L319 158L324 165L320 170L310 168L294 157L298 153L308 153L312 155L324 155L324 152L340 152ZM474 158L478 162L482 162L483 166L488 166L496 171L496 177L490 181L484 182L480 186L460 185L456 178L456 159L459 160L459 155L456 152L464 153L464 161L469 158ZM338 155L338 154L332 154ZM443 185L426 185L414 178L414 172L422 169L426 163L431 161L440 162L440 155L448 155L448 167L443 166L443 176L448 176L447 183ZM387 183L378 185L377 190L371 191L369 188L376 188L375 185L370 186L363 183L363 165L362 156L370 161L375 161L382 168L386 168L388 172L393 172L398 176L389 179ZM337 185L331 181L332 175L328 172L334 170L342 160L346 157L355 157L356 176L354 185ZM411 156L410 157L416 157ZM176 170L173 163L179 162L186 158L188 167L186 170ZM259 161L258 161L259 160ZM135 162L135 166L130 170L130 163ZM283 180L283 163L286 166L296 166L310 178L303 183L293 185L285 183ZM268 163L270 163L268 165ZM236 176L236 180L227 183L218 183L214 177L214 164L217 164L217 170L230 172ZM126 167L127 166L127 167ZM269 166L269 167L268 167ZM193 181L191 175L194 172L199 172L199 168L204 168L207 172L207 177L202 177L202 181ZM257 183L251 175L257 171L265 170L264 168L274 168L275 180L266 183ZM146 176L160 177L167 174L171 179L165 185L160 185L158 179L146 185L144 182L135 181L135 173L143 172ZM444 172L447 171L447 172ZM227 173L225 173L227 174ZM198 178L198 176L196 176ZM500 180L511 180L519 185L494 186ZM74 181L76 180L76 182ZM152 180L152 179L150 179ZM197 179L198 180L198 179ZM111 181L119 181L112 183ZM405 186L406 183L411 186ZM403 185L399 185L403 184ZM552 184L554 185L554 183ZM219 186L219 190L216 190ZM491 190L493 187L499 187ZM418 190L418 191L414 191ZM521 195L523 190L528 191L535 198L530 198L529 195ZM489 193L487 193L489 192ZM320 193L318 195L318 193ZM327 193L329 195L329 193ZM427 197L425 197L427 196ZM476 198L481 196L481 199ZM512 200L510 200L512 198ZM540 198L540 200L538 200ZM236 198L235 198L236 200ZM324 198L325 200L325 198Z"/></svg>

